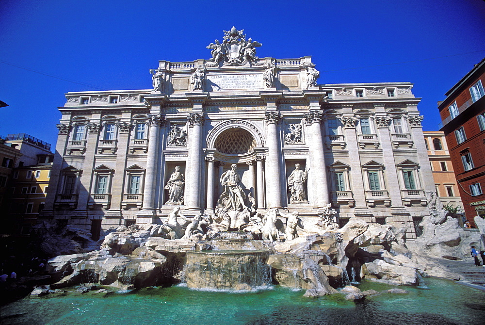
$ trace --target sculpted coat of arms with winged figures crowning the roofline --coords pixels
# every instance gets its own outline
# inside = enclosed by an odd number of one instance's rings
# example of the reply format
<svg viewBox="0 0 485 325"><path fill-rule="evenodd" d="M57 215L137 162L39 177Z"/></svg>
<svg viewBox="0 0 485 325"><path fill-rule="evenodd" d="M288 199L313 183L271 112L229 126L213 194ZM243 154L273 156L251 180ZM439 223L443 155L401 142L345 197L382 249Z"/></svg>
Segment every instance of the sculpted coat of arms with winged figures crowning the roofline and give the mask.
<svg viewBox="0 0 485 325"><path fill-rule="evenodd" d="M223 62L225 65L244 65L247 62L255 64L258 61L256 56L256 48L262 44L253 41L251 38L246 40L246 34L243 34L244 30L238 31L235 27L232 27L230 31L224 31L224 40L220 43L215 40L214 43L210 43L207 49L210 49L212 58L212 64L209 66L216 66L219 62Z"/></svg>

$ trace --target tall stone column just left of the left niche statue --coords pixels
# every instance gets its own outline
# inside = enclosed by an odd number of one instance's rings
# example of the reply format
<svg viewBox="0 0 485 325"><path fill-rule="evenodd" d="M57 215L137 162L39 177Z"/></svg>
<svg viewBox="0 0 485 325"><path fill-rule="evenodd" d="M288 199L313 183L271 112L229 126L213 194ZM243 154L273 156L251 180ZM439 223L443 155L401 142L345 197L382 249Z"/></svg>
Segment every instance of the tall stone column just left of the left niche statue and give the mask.
<svg viewBox="0 0 485 325"><path fill-rule="evenodd" d="M165 122L161 115L148 114L146 124L150 126L148 132L148 153L146 157L145 186L143 188L143 211L155 213L155 186L158 166L158 140L160 125Z"/></svg>

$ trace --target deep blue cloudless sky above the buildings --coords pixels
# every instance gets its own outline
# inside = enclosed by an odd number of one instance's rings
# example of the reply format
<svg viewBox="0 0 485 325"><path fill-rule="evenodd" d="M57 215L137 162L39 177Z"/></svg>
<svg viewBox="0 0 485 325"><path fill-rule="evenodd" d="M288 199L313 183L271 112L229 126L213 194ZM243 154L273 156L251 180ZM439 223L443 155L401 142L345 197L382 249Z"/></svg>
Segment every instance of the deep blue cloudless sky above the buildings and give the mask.
<svg viewBox="0 0 485 325"><path fill-rule="evenodd" d="M483 0L1 0L0 13L0 135L52 145L65 93L148 89L158 60L209 59L232 26L263 44L259 57L311 55L318 83L413 82L424 130L485 57Z"/></svg>

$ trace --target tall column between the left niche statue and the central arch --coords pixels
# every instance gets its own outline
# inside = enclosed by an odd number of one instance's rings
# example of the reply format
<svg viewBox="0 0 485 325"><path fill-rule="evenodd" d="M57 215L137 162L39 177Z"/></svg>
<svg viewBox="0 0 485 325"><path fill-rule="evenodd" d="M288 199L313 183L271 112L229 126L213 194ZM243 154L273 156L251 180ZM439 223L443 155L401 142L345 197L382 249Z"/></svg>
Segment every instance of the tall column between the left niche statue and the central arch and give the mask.
<svg viewBox="0 0 485 325"><path fill-rule="evenodd" d="M202 175L202 124L201 113L191 113L189 120L190 137L188 139L189 158L185 179L185 205L189 210L200 211L200 187Z"/></svg>

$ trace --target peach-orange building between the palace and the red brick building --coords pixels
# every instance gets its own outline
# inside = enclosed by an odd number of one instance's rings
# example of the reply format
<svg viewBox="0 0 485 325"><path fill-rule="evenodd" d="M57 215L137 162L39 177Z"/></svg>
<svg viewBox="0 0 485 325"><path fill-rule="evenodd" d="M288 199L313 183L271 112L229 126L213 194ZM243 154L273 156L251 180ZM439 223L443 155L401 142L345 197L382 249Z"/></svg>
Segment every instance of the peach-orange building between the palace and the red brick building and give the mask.
<svg viewBox="0 0 485 325"><path fill-rule="evenodd" d="M424 131L423 133L435 180L436 194L443 205L450 204L453 207L463 208L444 132Z"/></svg>

